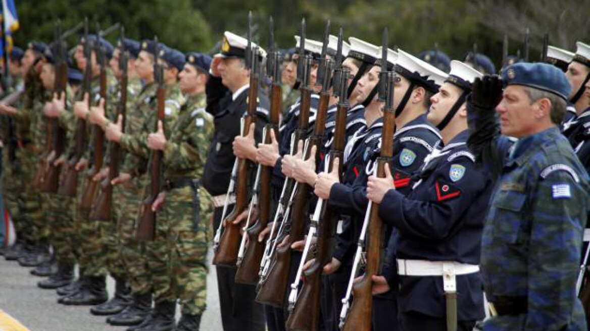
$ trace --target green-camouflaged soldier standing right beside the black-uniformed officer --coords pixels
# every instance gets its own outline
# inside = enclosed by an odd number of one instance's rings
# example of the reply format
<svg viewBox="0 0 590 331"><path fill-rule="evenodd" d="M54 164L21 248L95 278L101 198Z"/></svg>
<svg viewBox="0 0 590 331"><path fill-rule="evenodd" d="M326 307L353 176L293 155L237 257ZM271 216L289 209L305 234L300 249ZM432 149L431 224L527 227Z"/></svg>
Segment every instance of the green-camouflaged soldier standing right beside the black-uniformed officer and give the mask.
<svg viewBox="0 0 590 331"><path fill-rule="evenodd" d="M170 224L168 238L172 290L181 303L182 316L175 330L198 331L207 303L207 250L212 203L200 187L213 133L213 117L205 111L211 58L200 53L186 55L179 74L186 98L176 124L148 136L148 147L164 153L164 192L154 203L159 219ZM163 204L163 205L162 205ZM172 299L172 297L171 297ZM171 302L174 302L171 300ZM173 315L171 316L173 318ZM154 329L154 328L152 328ZM150 330L152 330L150 329Z"/></svg>

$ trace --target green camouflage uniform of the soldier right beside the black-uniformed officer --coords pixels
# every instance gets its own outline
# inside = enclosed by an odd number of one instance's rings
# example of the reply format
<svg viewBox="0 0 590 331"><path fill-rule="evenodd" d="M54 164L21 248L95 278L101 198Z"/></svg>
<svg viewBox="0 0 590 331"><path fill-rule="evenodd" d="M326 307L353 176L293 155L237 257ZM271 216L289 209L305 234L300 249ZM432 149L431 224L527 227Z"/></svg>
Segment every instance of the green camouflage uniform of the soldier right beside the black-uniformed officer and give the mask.
<svg viewBox="0 0 590 331"><path fill-rule="evenodd" d="M212 116L205 112L205 94L191 95L182 106L180 118L169 130L164 150L166 181L200 179L213 133ZM200 315L207 303L207 249L211 196L198 190L198 219L195 219L194 189L185 186L166 191L159 220L170 224L172 284L182 304L182 313ZM176 299L176 297L174 299Z"/></svg>

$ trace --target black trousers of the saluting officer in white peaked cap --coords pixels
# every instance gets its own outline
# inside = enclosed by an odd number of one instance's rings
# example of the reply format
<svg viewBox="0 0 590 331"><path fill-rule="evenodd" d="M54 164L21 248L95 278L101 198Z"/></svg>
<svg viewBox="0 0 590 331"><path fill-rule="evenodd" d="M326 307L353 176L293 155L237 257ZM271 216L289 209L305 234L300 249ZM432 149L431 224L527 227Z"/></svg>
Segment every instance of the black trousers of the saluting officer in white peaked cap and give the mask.
<svg viewBox="0 0 590 331"><path fill-rule="evenodd" d="M228 210L231 209L230 206ZM215 230L221 223L222 211L222 207L215 208L213 216ZM215 269L224 331L264 331L263 306L254 302L256 286L236 284L234 279L237 269L235 268L219 266Z"/></svg>

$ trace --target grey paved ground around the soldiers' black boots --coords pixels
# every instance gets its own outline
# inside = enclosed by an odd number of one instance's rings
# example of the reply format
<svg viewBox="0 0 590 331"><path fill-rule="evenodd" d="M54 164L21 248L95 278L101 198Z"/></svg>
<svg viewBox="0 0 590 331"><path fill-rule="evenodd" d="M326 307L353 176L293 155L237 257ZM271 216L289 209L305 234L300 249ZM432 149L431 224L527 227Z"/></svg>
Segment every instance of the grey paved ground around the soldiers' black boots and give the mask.
<svg viewBox="0 0 590 331"><path fill-rule="evenodd" d="M17 319L30 331L125 330L125 327L108 325L104 322L104 317L90 315L89 307L58 304L55 291L38 288L36 284L41 278L32 276L29 270L31 269L21 267L16 262L8 262L0 256L0 310ZM214 268L209 271L207 283L207 311L201 322L201 330L222 330ZM114 282L110 278L108 287L112 295ZM179 309L176 311L178 315ZM16 330L8 327L3 330L1 322L0 319L0 331Z"/></svg>

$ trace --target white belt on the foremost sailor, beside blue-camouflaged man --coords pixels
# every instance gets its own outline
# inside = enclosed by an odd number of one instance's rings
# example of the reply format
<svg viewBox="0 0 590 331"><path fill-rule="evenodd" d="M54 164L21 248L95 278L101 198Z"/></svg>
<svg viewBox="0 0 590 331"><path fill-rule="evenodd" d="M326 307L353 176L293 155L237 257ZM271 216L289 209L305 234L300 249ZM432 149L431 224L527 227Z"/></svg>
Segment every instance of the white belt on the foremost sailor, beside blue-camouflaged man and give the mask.
<svg viewBox="0 0 590 331"><path fill-rule="evenodd" d="M479 272L479 266L459 262L398 259L400 276L443 276L447 272L455 275L476 273Z"/></svg>

